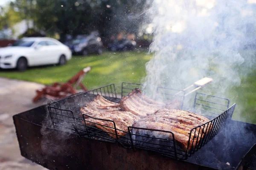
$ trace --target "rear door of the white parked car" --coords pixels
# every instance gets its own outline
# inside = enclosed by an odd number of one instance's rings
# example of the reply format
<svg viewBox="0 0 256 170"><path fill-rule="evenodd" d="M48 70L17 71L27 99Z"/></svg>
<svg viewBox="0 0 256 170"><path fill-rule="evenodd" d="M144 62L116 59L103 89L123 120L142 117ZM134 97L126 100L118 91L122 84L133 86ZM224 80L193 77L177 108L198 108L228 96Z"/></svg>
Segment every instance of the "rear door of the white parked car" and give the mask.
<svg viewBox="0 0 256 170"><path fill-rule="evenodd" d="M51 64L58 63L61 54L64 54L63 48L61 48L61 45L58 45L57 43L52 41L47 41L47 45L50 53L49 62L51 62Z"/></svg>

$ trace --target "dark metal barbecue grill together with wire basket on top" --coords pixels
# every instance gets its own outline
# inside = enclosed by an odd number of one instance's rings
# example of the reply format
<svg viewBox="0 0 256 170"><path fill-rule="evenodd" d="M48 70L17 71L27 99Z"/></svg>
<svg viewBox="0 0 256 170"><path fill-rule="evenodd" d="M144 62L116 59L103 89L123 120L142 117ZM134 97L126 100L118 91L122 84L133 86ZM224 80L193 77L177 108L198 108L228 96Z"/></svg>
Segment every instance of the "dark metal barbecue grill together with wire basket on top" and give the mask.
<svg viewBox="0 0 256 170"><path fill-rule="evenodd" d="M139 86L122 83L122 96ZM177 94L175 89L158 88L157 91L165 95L166 99L178 98L182 103L181 109L189 108L183 103L183 91L179 96L174 95ZM162 139L148 136L146 133L136 133L135 127L128 127L127 135L111 138L103 130L87 126L86 119L80 115L80 108L92 101L97 94L112 102L120 101L116 95L115 85L111 84L15 115L21 154L49 169L234 169L243 167L244 164L248 164L247 159L251 159L250 156L244 155L255 143L253 140L249 141L249 138L253 134L256 135L256 125L228 121L235 108L235 105L229 107L228 99L201 93L195 95L192 111L211 120L191 129L190 138L196 144L190 150L184 151L176 144L173 134L172 139ZM85 124L82 121L85 121ZM115 122L111 122L116 132L118 129ZM239 126L248 127L253 134L248 135L248 131L241 139L241 134L237 133ZM201 128L207 130L209 127L212 128L204 138L195 136L196 131L200 131ZM224 130L221 130L222 128ZM225 134L226 131L229 132L228 135ZM117 136L117 133L115 135ZM222 142L230 139L236 140L225 147ZM203 146L204 149L201 149ZM241 161L243 156L244 159ZM177 159L183 161L175 161ZM226 162L230 162L231 166ZM64 166L65 164L67 166Z"/></svg>

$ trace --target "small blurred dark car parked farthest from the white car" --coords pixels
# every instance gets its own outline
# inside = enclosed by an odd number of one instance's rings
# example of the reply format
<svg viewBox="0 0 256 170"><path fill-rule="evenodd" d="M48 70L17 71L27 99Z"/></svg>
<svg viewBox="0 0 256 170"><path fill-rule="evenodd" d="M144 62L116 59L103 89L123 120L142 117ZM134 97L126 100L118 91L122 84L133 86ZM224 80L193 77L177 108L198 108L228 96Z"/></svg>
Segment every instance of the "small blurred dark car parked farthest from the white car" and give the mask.
<svg viewBox="0 0 256 170"><path fill-rule="evenodd" d="M113 42L108 44L109 51L133 51L136 47L136 42L134 40L113 40Z"/></svg>

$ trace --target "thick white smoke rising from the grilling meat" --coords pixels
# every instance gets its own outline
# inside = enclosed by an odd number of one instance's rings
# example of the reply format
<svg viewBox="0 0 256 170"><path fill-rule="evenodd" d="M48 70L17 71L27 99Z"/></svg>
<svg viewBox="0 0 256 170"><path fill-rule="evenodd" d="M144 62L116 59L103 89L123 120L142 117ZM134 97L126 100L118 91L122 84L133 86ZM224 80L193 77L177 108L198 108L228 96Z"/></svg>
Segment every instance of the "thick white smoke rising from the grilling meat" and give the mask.
<svg viewBox="0 0 256 170"><path fill-rule="evenodd" d="M156 99L159 86L181 90L203 77L213 78L216 96L239 86L238 66L252 59L239 50L254 33L254 11L246 0L152 0L147 95Z"/></svg>

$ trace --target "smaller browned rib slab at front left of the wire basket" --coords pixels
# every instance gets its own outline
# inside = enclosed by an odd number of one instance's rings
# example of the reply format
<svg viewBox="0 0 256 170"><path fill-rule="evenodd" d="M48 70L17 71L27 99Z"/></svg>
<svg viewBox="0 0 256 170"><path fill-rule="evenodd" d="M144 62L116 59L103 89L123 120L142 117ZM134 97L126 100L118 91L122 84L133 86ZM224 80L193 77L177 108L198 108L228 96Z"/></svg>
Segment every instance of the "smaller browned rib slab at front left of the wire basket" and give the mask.
<svg viewBox="0 0 256 170"><path fill-rule="evenodd" d="M112 112L102 112L93 115L94 118L85 116L85 123L87 126L95 126L109 134L109 136L116 139L121 136L125 136L128 133L128 126L131 126L134 122L137 122L140 117L136 116L130 112L126 111L112 111ZM106 120L98 120L106 119ZM108 121L107 121L108 120ZM114 123L116 125L116 132ZM106 127L107 126L107 127Z"/></svg>

